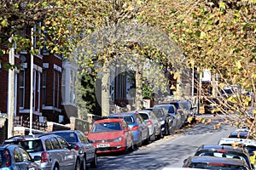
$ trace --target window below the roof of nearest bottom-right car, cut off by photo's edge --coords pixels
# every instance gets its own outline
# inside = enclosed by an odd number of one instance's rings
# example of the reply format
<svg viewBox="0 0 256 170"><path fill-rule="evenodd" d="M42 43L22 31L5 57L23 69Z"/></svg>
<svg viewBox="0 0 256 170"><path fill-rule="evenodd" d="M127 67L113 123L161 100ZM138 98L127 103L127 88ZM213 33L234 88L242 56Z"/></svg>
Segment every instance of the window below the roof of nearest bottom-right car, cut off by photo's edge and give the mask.
<svg viewBox="0 0 256 170"><path fill-rule="evenodd" d="M201 168L201 169L227 169L227 170L235 170L235 169L247 169L247 167L241 165L230 165L226 163L191 163L189 167L192 168Z"/></svg>

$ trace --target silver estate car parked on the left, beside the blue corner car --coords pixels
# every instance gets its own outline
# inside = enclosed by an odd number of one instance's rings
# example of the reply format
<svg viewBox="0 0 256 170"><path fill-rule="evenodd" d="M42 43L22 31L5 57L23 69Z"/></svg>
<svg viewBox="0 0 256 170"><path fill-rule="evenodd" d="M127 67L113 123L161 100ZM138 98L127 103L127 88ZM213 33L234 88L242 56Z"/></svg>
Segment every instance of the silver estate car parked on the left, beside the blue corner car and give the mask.
<svg viewBox="0 0 256 170"><path fill-rule="evenodd" d="M3 144L21 145L42 169L80 169L79 156L73 150L76 145L68 144L55 134L14 136L6 139Z"/></svg>

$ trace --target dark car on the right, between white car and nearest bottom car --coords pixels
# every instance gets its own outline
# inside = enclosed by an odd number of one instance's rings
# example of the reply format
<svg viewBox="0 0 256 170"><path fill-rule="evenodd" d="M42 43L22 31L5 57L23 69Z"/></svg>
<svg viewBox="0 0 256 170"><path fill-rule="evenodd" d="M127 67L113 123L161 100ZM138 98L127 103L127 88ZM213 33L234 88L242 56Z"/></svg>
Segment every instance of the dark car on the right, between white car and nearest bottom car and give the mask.
<svg viewBox="0 0 256 170"><path fill-rule="evenodd" d="M215 156L226 158L239 158L247 162L247 167L253 169L254 166L250 162L250 156L247 150L239 147L227 145L201 145L195 152L195 156Z"/></svg>

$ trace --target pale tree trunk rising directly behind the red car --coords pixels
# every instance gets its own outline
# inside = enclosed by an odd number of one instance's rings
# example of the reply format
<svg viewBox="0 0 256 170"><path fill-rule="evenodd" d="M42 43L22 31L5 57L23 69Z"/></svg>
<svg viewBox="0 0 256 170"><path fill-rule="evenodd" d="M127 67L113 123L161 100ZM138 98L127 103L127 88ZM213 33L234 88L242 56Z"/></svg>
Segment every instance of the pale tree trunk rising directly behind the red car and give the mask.
<svg viewBox="0 0 256 170"><path fill-rule="evenodd" d="M109 77L110 69L102 69L102 116L109 116Z"/></svg>

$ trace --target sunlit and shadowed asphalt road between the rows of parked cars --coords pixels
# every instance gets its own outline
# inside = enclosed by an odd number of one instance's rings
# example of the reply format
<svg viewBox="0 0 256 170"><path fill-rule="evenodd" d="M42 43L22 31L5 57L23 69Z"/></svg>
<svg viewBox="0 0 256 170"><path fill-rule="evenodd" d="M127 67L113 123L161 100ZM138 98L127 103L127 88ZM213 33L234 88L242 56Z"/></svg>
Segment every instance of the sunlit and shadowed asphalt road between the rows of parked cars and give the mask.
<svg viewBox="0 0 256 170"><path fill-rule="evenodd" d="M211 120L208 122L208 120ZM98 170L144 170L163 167L182 167L183 160L192 156L201 144L218 144L234 127L223 123L216 117L207 116L205 123L196 123L183 127L177 133L163 139L143 145L143 147L125 155L102 155L98 157ZM218 122L221 126L215 128Z"/></svg>

